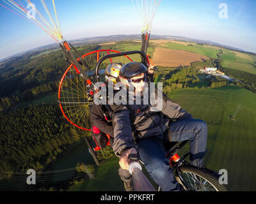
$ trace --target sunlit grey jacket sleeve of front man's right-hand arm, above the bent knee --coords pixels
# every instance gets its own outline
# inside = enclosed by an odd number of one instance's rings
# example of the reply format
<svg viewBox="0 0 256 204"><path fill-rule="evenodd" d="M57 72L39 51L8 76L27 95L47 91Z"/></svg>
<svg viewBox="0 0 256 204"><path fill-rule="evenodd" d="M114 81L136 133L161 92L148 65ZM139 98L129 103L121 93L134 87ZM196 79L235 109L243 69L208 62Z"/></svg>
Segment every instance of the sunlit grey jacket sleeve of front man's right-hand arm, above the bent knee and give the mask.
<svg viewBox="0 0 256 204"><path fill-rule="evenodd" d="M174 120L193 119L192 115L186 112L186 110L182 109L178 103L168 98L164 93L161 97L163 99L161 100L163 101L161 112L163 112L164 115L167 115L170 117L170 119Z"/></svg>

